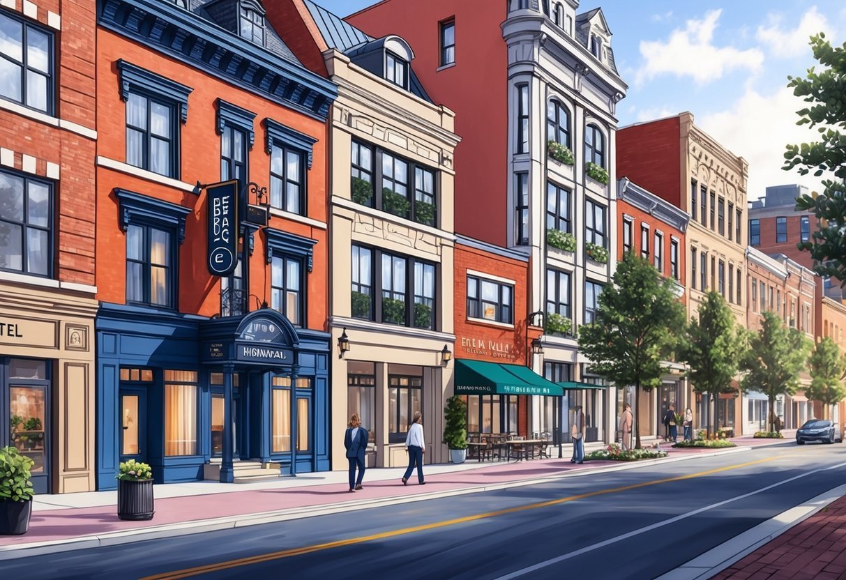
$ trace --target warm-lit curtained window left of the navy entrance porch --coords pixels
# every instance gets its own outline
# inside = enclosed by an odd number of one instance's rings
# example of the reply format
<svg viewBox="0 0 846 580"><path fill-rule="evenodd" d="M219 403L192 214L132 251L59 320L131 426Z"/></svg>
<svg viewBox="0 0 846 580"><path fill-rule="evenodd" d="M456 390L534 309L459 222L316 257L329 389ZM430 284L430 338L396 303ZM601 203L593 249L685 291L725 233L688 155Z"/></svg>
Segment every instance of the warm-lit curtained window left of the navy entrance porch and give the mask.
<svg viewBox="0 0 846 580"><path fill-rule="evenodd" d="M164 371L164 454L197 454L197 373Z"/></svg>

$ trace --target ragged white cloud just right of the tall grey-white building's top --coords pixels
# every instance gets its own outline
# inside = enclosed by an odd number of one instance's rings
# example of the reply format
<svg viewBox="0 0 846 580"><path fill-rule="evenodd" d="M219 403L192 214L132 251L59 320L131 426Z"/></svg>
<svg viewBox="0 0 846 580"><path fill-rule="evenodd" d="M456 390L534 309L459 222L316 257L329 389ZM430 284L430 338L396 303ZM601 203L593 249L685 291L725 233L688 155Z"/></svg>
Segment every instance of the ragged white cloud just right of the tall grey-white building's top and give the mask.
<svg viewBox="0 0 846 580"><path fill-rule="evenodd" d="M667 41L640 41L643 63L634 80L641 84L660 74L689 76L700 85L717 80L735 68L753 73L761 69L764 54L758 48L739 50L712 43L722 10L711 10L701 20L688 20Z"/></svg>

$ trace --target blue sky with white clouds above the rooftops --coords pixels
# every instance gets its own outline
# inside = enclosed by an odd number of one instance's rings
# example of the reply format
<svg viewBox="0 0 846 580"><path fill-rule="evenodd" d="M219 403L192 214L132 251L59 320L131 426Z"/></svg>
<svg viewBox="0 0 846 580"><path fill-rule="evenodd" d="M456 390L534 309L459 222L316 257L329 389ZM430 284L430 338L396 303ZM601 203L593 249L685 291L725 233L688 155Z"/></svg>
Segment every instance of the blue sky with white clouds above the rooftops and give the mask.
<svg viewBox="0 0 846 580"><path fill-rule="evenodd" d="M341 15L375 2L316 1ZM579 11L596 6L629 85L618 105L620 126L690 111L700 128L749 162L750 200L767 185L820 189L820 178L781 170L784 145L816 139L796 126L804 103L786 85L788 74L815 64L811 34L824 30L837 45L846 40L843 0L583 0Z"/></svg>

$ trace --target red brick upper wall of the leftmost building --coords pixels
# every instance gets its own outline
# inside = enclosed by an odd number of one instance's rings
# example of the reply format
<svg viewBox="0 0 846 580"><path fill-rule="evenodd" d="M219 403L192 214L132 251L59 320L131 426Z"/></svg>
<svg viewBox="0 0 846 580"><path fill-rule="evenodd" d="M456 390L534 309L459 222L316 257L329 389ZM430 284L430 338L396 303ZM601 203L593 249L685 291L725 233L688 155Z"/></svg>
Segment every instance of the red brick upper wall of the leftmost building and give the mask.
<svg viewBox="0 0 846 580"><path fill-rule="evenodd" d="M21 3L15 3L20 8ZM62 30L47 26L47 12L62 17ZM95 125L95 14L89 0L44 0L36 19L0 8L44 30L56 42L53 116L85 129ZM47 177L47 162L59 166L54 195L54 277L62 282L94 282L94 140L67 129L0 110L0 147L14 151L13 168L23 171L23 156L36 158L36 177Z"/></svg>

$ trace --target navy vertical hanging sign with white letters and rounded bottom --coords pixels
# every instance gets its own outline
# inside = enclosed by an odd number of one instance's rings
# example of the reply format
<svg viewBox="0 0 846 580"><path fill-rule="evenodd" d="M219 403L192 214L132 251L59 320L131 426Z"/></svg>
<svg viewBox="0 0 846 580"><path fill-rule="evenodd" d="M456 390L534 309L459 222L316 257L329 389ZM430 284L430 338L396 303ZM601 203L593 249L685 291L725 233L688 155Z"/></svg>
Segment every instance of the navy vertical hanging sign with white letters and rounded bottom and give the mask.
<svg viewBox="0 0 846 580"><path fill-rule="evenodd" d="M238 265L238 180L206 186L208 266L212 276L229 276Z"/></svg>

